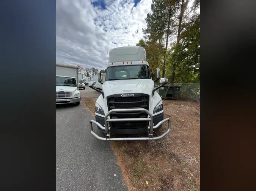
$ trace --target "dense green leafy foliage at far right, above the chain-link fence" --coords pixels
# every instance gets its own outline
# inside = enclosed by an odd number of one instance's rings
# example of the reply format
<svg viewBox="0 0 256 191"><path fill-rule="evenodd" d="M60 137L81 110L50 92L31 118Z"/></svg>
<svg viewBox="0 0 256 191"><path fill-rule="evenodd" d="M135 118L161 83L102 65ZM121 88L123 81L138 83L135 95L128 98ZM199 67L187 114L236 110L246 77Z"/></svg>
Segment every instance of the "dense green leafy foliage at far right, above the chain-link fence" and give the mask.
<svg viewBox="0 0 256 191"><path fill-rule="evenodd" d="M200 14L195 13L182 24L181 39L169 51L169 60L176 63L176 83L200 82ZM168 73L173 68L168 66Z"/></svg>

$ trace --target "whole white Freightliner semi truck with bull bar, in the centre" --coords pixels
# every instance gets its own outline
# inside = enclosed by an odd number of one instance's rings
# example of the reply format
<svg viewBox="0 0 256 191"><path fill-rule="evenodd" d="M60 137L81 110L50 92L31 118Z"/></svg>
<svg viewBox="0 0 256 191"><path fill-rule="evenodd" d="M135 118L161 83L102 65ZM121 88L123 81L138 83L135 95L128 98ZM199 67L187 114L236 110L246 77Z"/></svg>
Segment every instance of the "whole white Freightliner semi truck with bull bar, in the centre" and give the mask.
<svg viewBox="0 0 256 191"><path fill-rule="evenodd" d="M156 79L152 80L146 51L139 46L114 48L109 52L109 64L102 83L98 73L98 82L102 90L95 88L95 82L89 87L101 92L95 103L95 120L90 121L90 131L100 140L157 140L170 132L170 119L163 119L163 101L156 92L168 80L160 79L160 69L156 69ZM160 79L160 86L154 82ZM154 137L154 131L168 122L168 129L161 136ZM104 132L105 137L93 131L93 123ZM111 134L148 133L147 137L111 137Z"/></svg>

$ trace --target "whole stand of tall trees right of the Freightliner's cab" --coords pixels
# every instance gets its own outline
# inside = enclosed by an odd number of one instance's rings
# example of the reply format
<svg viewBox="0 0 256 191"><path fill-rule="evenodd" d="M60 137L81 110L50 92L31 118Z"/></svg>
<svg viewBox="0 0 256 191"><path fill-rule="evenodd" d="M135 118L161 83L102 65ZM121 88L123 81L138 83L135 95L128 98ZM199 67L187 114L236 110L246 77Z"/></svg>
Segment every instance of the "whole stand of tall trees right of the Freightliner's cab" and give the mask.
<svg viewBox="0 0 256 191"><path fill-rule="evenodd" d="M153 0L152 14L145 18L148 26L143 29L145 40L140 39L137 44L146 49L152 76L155 68L160 68L169 80L174 73L174 83L200 82L200 14L196 12L200 1L195 0L190 9L187 3L188 0L183 0L183 4L182 0ZM166 41L170 49L166 49Z"/></svg>

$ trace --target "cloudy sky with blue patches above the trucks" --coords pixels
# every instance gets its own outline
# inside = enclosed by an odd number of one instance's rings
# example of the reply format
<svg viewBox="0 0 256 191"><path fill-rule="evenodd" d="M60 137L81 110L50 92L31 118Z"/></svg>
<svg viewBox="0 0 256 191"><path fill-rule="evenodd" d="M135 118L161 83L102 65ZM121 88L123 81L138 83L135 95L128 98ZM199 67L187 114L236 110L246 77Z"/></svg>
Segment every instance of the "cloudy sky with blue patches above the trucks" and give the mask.
<svg viewBox="0 0 256 191"><path fill-rule="evenodd" d="M135 46L152 0L57 0L56 62L105 69L107 51Z"/></svg>

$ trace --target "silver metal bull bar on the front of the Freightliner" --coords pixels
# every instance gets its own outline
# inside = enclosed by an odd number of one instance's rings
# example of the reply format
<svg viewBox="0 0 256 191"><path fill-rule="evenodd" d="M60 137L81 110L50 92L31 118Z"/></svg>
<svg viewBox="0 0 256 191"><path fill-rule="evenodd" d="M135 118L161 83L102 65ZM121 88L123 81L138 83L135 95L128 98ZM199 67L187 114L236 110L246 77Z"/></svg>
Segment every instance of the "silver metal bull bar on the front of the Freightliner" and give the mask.
<svg viewBox="0 0 256 191"><path fill-rule="evenodd" d="M113 112L127 112L127 111L134 111L134 112L143 111L149 115L149 118L108 119L108 116L110 116L110 114ZM122 122L124 122L124 121L149 121L148 137L111 138L109 122L119 122L119 121L122 121ZM162 125L165 122L168 122L167 131L164 132L161 136L154 137L153 130L157 129L160 125ZM105 131L105 134L106 134L105 138L98 136L93 131L93 123ZM112 110L108 111L108 113L105 115L105 127L103 127L100 123L98 123L94 120L90 120L90 130L91 130L91 134L93 134L94 137L96 137L97 139L100 139L100 140L158 140L158 139L162 139L164 136L166 136L170 132L171 123L170 123L170 119L166 118L166 119L163 119L162 121L160 121L159 123L157 123L157 125L153 126L153 116L147 109L142 109L142 108L141 109L112 109Z"/></svg>

